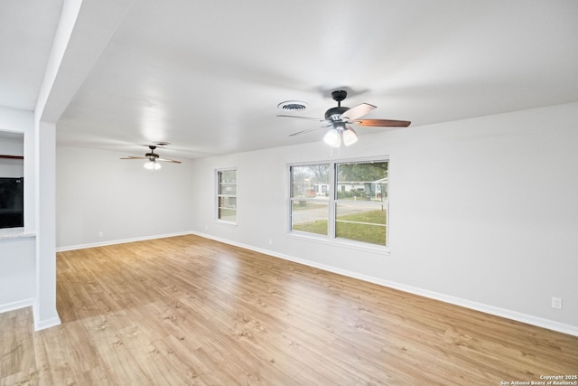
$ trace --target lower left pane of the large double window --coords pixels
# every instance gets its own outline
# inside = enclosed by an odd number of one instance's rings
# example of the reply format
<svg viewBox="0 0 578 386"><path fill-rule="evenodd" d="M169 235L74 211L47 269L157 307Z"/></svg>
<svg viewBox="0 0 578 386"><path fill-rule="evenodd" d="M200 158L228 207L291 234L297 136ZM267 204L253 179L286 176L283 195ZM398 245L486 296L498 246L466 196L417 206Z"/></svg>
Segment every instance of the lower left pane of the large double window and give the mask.
<svg viewBox="0 0 578 386"><path fill-rule="evenodd" d="M292 231L327 235L327 200L294 200L291 208Z"/></svg>

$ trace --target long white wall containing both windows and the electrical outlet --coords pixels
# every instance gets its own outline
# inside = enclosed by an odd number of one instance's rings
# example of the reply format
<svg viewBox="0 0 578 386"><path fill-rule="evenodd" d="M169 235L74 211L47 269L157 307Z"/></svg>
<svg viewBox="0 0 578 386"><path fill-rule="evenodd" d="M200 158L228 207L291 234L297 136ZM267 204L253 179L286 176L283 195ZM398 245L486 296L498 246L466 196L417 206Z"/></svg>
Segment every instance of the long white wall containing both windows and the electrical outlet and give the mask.
<svg viewBox="0 0 578 386"><path fill-rule="evenodd" d="M214 184L215 169L238 168L238 226L216 222L214 188L197 188L193 230L575 334L577 122L574 103L378 134L359 129L359 142L339 157L390 158L388 256L288 235L287 164L331 158L321 143L194 161L196 187ZM564 299L563 310L551 307L553 296Z"/></svg>

